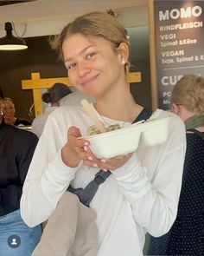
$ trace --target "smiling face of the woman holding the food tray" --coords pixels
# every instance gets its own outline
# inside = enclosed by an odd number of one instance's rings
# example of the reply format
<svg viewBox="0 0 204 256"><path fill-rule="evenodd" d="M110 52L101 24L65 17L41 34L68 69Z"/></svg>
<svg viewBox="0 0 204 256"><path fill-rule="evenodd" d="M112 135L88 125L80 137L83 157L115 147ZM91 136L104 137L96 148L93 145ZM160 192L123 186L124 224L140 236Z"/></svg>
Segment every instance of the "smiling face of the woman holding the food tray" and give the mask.
<svg viewBox="0 0 204 256"><path fill-rule="evenodd" d="M81 34L67 37L62 44L70 81L93 97L104 95L124 78L125 50L125 43L114 50L112 43L102 37Z"/></svg>

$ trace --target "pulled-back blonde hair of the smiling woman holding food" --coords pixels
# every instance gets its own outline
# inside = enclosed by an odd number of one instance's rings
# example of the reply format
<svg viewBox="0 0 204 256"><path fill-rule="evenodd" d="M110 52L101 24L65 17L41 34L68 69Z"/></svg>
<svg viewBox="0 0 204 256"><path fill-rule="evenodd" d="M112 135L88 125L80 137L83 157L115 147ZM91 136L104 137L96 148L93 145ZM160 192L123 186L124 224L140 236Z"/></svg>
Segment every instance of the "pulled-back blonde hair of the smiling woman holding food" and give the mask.
<svg viewBox="0 0 204 256"><path fill-rule="evenodd" d="M91 12L77 17L73 23L68 23L51 42L53 49L58 49L63 59L62 44L68 36L80 33L84 36L101 36L112 43L117 49L120 43L126 43L130 49L127 31L116 17L104 12Z"/></svg>

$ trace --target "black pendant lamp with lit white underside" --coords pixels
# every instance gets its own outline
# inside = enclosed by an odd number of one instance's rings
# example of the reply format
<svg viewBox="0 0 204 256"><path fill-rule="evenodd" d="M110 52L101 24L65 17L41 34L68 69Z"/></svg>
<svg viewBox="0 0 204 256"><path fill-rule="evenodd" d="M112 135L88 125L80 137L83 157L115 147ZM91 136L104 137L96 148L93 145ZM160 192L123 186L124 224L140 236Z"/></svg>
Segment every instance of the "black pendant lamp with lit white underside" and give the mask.
<svg viewBox="0 0 204 256"><path fill-rule="evenodd" d="M0 38L0 50L18 50L18 49L27 49L28 46L20 37L12 35L12 24L5 23L6 36Z"/></svg>

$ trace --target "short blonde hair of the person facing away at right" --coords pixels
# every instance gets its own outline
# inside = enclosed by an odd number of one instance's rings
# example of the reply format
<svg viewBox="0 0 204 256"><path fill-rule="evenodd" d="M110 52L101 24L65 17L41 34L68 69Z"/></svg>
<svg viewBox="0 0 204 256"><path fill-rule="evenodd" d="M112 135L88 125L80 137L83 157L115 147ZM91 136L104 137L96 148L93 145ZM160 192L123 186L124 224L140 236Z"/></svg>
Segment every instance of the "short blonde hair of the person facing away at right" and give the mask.
<svg viewBox="0 0 204 256"><path fill-rule="evenodd" d="M184 75L175 84L171 93L171 103L183 105L189 111L204 114L204 77Z"/></svg>

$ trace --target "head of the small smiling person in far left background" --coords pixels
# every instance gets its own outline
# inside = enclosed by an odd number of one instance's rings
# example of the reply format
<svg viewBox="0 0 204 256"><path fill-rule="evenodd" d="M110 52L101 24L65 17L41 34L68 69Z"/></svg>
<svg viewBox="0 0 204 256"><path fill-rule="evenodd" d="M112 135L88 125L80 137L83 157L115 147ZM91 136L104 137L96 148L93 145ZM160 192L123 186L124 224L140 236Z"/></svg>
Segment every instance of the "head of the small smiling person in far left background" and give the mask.
<svg viewBox="0 0 204 256"><path fill-rule="evenodd" d="M13 100L10 98L3 98L2 100L0 100L0 108L3 112L4 122L6 124L13 125L16 121L16 110Z"/></svg>

